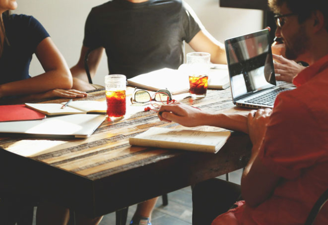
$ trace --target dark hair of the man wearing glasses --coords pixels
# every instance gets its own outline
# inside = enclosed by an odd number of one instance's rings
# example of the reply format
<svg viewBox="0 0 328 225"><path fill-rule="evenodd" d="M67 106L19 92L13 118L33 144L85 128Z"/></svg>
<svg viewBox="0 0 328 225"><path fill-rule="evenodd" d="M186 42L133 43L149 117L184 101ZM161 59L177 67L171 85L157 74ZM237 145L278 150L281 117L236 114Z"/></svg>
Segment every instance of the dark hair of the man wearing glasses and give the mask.
<svg viewBox="0 0 328 225"><path fill-rule="evenodd" d="M269 7L274 13L279 13L280 7L286 3L287 8L298 15L298 22L303 23L318 10L324 17L324 26L328 31L328 1L327 0L268 0Z"/></svg>

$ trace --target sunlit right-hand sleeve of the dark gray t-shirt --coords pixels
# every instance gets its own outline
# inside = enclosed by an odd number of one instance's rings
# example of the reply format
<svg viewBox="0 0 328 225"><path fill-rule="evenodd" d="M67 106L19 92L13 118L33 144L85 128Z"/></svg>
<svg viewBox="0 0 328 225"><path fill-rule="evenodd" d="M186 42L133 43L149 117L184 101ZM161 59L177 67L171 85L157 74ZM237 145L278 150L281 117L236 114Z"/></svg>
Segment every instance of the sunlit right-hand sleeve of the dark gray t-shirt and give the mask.
<svg viewBox="0 0 328 225"><path fill-rule="evenodd" d="M189 43L201 30L201 27L203 27L196 13L184 1L182 1L182 26L185 33L184 39L187 43Z"/></svg>

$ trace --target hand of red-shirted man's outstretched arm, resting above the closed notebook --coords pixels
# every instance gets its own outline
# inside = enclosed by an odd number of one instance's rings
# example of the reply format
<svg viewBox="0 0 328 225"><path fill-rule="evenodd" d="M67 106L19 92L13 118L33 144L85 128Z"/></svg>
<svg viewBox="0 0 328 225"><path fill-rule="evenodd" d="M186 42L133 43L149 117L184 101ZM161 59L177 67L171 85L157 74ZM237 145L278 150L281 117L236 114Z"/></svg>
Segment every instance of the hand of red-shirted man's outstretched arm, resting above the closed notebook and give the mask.
<svg viewBox="0 0 328 225"><path fill-rule="evenodd" d="M158 117L161 121L176 122L186 127L196 127L204 125L204 113L200 109L177 103L163 105L160 107Z"/></svg>

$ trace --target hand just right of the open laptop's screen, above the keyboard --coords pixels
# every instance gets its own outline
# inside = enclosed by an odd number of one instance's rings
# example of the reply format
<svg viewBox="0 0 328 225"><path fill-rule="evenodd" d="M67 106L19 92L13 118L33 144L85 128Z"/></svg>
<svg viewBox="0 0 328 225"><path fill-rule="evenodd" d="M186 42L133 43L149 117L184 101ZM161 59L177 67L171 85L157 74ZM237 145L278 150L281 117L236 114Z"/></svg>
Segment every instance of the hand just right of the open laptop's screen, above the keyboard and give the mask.
<svg viewBox="0 0 328 225"><path fill-rule="evenodd" d="M301 72L305 67L298 65L292 60L287 60L282 56L272 54L273 60L277 63L274 63L274 72L280 74L276 76L277 81L286 81L292 83L294 77Z"/></svg>

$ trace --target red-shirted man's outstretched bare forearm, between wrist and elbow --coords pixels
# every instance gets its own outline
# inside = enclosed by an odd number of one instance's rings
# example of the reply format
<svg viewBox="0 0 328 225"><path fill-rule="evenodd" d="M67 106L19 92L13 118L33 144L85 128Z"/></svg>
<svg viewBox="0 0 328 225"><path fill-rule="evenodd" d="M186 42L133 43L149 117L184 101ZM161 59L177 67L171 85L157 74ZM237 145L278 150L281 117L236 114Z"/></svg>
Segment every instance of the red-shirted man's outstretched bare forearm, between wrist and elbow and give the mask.
<svg viewBox="0 0 328 225"><path fill-rule="evenodd" d="M203 121L204 125L248 133L247 114L205 113Z"/></svg>

